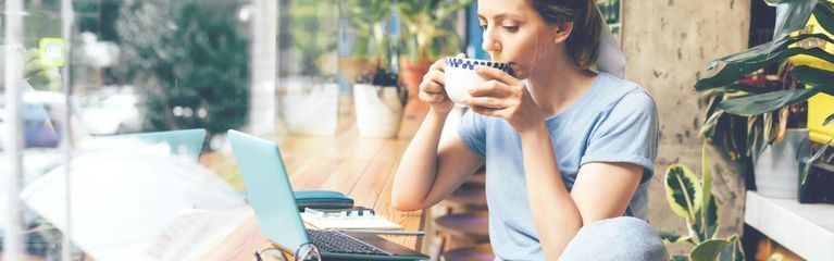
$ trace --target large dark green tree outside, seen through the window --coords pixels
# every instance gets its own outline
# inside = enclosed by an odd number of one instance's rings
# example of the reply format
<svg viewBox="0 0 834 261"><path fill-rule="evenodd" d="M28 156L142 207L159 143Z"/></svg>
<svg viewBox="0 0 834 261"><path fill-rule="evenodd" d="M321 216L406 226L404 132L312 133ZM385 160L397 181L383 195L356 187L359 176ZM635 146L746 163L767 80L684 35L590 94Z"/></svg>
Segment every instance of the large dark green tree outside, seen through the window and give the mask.
<svg viewBox="0 0 834 261"><path fill-rule="evenodd" d="M145 130L242 126L249 110L248 26L239 3L147 0L125 3L116 70L146 98Z"/></svg>

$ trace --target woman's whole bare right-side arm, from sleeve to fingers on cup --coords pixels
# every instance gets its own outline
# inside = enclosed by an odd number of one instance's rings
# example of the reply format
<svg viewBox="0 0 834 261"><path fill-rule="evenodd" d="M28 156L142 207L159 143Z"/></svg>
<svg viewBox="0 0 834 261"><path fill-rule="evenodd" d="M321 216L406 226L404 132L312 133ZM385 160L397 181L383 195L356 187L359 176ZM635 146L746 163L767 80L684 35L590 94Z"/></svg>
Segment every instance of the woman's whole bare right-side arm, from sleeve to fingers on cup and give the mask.
<svg viewBox="0 0 834 261"><path fill-rule="evenodd" d="M474 112L498 116L519 132L531 212L547 260L557 260L584 224L620 216L642 176L631 163L587 163L572 192L562 181L544 115L526 86L488 67L476 69L496 79L478 86L463 102Z"/></svg>

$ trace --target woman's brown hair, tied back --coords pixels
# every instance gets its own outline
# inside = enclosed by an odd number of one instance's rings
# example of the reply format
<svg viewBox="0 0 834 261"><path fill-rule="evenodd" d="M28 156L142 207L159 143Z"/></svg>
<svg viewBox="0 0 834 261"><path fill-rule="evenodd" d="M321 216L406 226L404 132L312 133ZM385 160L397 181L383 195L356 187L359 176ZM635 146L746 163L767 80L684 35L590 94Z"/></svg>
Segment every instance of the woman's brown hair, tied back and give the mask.
<svg viewBox="0 0 834 261"><path fill-rule="evenodd" d="M582 69L592 67L599 55L599 33L602 17L597 11L597 0L530 0L547 24L573 22L565 48Z"/></svg>

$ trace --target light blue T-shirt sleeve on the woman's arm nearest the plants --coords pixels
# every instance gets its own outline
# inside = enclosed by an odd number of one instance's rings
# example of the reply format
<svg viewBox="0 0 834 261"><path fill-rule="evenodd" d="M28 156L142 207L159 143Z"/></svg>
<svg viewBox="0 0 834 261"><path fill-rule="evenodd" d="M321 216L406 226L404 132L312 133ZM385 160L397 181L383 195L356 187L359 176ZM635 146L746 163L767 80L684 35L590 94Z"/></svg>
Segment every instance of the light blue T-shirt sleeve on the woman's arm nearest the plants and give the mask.
<svg viewBox="0 0 834 261"><path fill-rule="evenodd" d="M611 104L609 114L590 134L582 164L626 162L643 166L640 183L653 175L658 149L658 116L655 100L642 88Z"/></svg>

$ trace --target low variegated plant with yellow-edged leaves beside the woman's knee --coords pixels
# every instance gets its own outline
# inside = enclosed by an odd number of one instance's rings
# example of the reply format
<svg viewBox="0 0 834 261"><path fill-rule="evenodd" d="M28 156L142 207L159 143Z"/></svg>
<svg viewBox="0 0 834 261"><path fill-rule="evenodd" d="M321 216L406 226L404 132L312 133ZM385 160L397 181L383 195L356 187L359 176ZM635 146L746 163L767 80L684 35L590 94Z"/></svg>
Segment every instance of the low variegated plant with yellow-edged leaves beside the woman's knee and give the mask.
<svg viewBox="0 0 834 261"><path fill-rule="evenodd" d="M744 260L744 250L737 234L719 237L719 209L712 194L712 171L707 154L707 144L701 150L701 178L689 167L671 164L667 169L664 187L667 202L672 212L684 217L687 235L674 232L660 233L663 243L688 243L694 245L688 254L672 257L672 260Z"/></svg>

